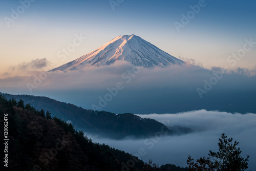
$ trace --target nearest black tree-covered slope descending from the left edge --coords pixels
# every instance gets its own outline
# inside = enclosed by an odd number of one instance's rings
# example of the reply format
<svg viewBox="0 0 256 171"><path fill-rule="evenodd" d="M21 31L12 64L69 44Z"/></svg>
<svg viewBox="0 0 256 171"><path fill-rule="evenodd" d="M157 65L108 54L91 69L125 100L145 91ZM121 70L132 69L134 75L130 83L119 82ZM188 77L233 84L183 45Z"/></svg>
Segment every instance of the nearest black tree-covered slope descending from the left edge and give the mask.
<svg viewBox="0 0 256 171"><path fill-rule="evenodd" d="M0 129L7 127L9 139L7 147L0 143L1 149L8 149L8 167L2 163L0 170L187 170L170 164L153 168L128 153L93 143L71 123L52 118L48 111L38 111L23 100L0 95L0 116Z"/></svg>

